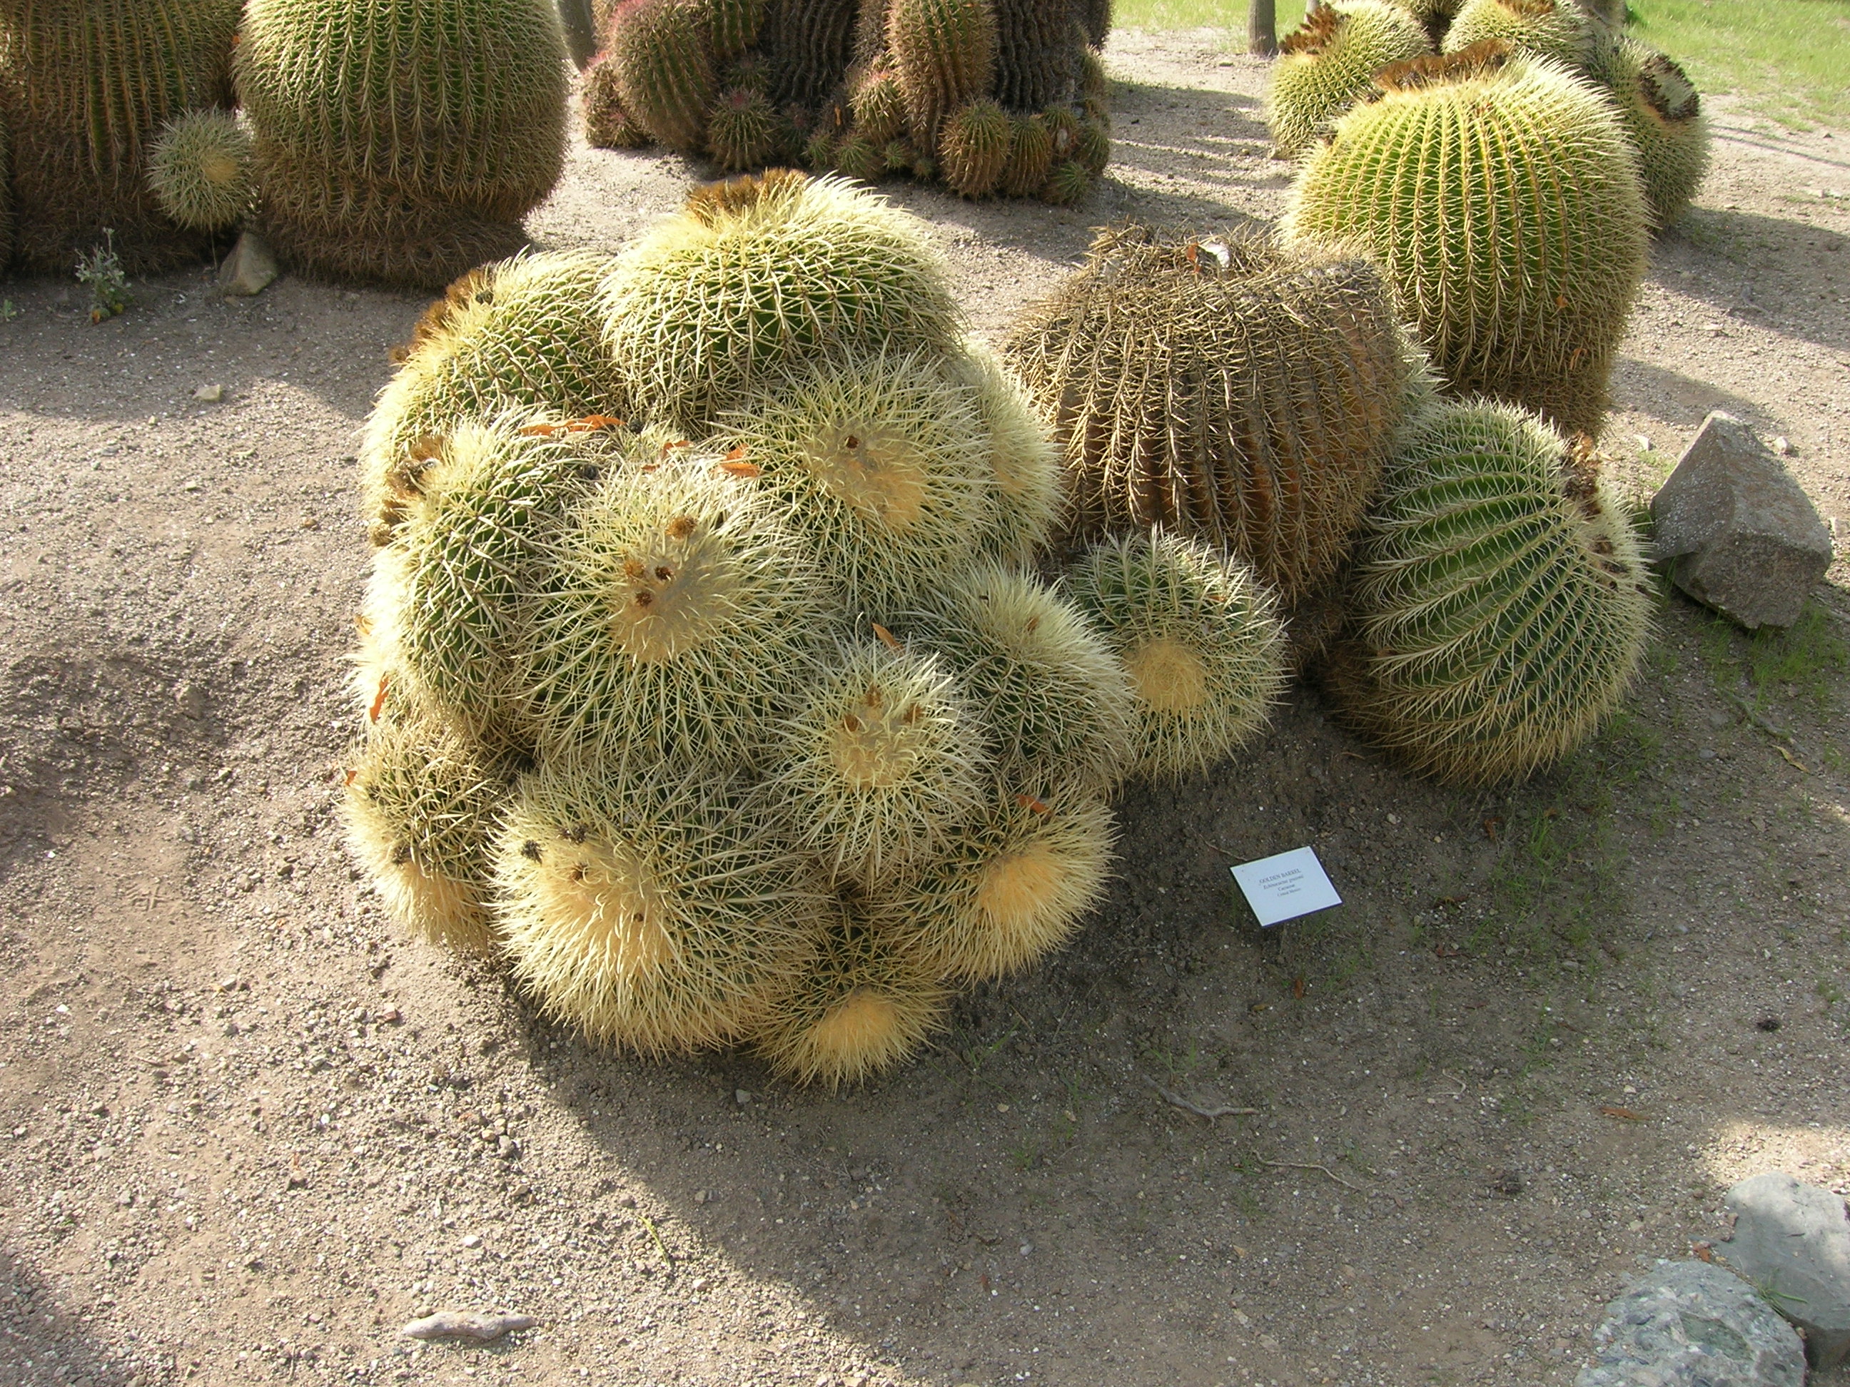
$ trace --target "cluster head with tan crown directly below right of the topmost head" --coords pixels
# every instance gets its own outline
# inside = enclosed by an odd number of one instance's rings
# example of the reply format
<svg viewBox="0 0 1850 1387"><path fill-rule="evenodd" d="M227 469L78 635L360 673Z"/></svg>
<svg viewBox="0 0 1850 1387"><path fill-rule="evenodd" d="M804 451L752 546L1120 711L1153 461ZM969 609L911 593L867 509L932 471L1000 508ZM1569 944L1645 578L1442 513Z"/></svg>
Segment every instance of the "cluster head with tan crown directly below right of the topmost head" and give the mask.
<svg viewBox="0 0 1850 1387"><path fill-rule="evenodd" d="M849 612L918 605L990 523L990 438L936 353L825 364L722 414L714 436L762 472Z"/></svg>

